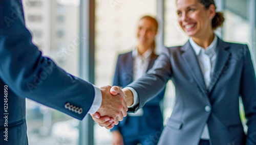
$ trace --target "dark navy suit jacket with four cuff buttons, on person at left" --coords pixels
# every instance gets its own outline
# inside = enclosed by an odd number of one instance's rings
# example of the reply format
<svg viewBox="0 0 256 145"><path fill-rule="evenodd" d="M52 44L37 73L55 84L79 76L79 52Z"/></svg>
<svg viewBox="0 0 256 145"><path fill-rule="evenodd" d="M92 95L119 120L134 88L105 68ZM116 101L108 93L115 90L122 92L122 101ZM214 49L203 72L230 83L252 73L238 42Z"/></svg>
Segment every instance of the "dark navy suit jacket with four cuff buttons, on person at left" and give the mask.
<svg viewBox="0 0 256 145"><path fill-rule="evenodd" d="M91 83L74 77L41 55L25 28L21 1L0 1L0 144L27 144L25 98L82 119L94 99ZM8 112L4 114L4 86ZM82 109L65 108L70 103ZM67 106L66 106L67 107ZM8 141L3 138L8 115Z"/></svg>

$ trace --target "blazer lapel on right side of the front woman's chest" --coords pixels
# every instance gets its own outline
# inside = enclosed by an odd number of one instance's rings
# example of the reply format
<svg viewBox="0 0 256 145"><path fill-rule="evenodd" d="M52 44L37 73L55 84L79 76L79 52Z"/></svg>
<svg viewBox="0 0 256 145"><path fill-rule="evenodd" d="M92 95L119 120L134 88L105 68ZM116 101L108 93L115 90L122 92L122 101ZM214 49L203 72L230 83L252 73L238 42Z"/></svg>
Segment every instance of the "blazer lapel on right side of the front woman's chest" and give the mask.
<svg viewBox="0 0 256 145"><path fill-rule="evenodd" d="M229 45L223 42L221 39L218 38L218 45L217 45L217 58L215 63L214 72L212 72L209 90L210 93L218 80L220 79L221 75L227 68L227 62L230 59L230 53L226 51Z"/></svg>

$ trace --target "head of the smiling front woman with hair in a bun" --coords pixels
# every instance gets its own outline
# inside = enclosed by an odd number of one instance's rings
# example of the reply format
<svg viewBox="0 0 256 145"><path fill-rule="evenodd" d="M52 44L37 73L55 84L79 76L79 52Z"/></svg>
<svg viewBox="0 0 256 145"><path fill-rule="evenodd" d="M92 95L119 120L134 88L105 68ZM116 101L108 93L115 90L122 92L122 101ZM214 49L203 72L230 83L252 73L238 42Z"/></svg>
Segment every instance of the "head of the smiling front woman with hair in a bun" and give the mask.
<svg viewBox="0 0 256 145"><path fill-rule="evenodd" d="M213 0L177 1L179 25L197 43L200 43L201 39L208 39L205 36L210 36L212 41L214 30L222 26L224 21L223 14L220 12L216 13L215 10L216 6ZM200 45L208 46L207 43Z"/></svg>

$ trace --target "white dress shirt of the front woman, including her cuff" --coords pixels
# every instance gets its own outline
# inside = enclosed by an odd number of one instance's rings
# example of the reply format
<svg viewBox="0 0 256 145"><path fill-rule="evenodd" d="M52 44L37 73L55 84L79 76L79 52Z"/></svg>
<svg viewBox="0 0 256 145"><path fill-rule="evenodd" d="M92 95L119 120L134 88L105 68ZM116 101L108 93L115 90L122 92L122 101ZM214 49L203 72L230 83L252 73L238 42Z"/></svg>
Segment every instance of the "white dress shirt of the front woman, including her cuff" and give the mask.
<svg viewBox="0 0 256 145"><path fill-rule="evenodd" d="M215 35L214 40L204 50L204 48L199 46L196 42L194 42L192 38L189 38L189 42L196 53L196 56L203 74L205 86L207 89L209 87L211 75L212 75L212 72L214 71L214 67L216 63L216 56L217 56L216 51L217 51L217 42L218 42L217 40L218 40L217 36ZM136 92L135 89L131 87L126 87L126 88L130 89L133 92L134 103L130 107L134 107L139 103L138 93ZM201 134L201 139L206 139L206 140L210 139L207 123L205 124L203 132Z"/></svg>

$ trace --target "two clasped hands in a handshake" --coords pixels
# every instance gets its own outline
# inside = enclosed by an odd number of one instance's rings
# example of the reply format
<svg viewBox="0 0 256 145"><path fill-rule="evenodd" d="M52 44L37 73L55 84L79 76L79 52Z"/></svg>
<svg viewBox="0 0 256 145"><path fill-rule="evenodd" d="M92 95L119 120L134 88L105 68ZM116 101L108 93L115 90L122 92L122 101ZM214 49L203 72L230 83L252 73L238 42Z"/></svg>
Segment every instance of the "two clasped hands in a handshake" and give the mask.
<svg viewBox="0 0 256 145"><path fill-rule="evenodd" d="M133 93L129 89L117 86L100 87L102 102L96 113L91 114L93 120L101 127L112 129L127 115L128 108L133 104Z"/></svg>

